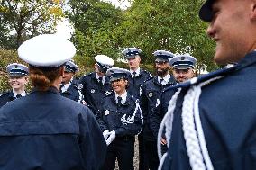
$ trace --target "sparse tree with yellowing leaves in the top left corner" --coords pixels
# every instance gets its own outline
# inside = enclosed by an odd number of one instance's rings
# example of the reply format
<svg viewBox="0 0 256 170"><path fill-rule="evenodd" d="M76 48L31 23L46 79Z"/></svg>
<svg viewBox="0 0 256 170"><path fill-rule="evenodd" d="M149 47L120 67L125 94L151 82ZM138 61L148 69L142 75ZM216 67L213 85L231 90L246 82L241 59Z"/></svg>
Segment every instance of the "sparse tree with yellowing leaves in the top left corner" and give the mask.
<svg viewBox="0 0 256 170"><path fill-rule="evenodd" d="M54 31L61 0L0 0L0 46L17 49L24 40Z"/></svg>

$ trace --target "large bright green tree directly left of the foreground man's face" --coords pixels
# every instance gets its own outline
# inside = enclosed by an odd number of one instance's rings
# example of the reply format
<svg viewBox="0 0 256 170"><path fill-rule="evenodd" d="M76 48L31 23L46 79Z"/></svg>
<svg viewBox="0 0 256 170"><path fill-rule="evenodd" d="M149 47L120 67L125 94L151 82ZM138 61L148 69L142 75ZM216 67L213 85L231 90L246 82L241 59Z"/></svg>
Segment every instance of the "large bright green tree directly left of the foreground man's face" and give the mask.
<svg viewBox="0 0 256 170"><path fill-rule="evenodd" d="M202 0L133 0L115 30L120 46L141 48L146 63L153 62L154 50L166 49L196 57L198 70L206 66L215 69L215 46L206 37L206 23L198 18L201 4Z"/></svg>

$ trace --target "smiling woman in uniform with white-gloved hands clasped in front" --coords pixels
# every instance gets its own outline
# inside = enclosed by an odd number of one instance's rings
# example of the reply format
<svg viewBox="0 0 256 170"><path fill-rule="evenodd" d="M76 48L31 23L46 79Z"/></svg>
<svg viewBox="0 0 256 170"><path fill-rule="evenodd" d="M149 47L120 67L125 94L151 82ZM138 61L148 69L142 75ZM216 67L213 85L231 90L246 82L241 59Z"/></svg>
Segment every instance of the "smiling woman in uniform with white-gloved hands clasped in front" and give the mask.
<svg viewBox="0 0 256 170"><path fill-rule="evenodd" d="M105 136L107 155L104 170L114 170L115 159L120 170L133 170L135 135L142 130L142 111L139 100L126 91L129 71L113 67L107 70L114 94L103 100L99 117Z"/></svg>

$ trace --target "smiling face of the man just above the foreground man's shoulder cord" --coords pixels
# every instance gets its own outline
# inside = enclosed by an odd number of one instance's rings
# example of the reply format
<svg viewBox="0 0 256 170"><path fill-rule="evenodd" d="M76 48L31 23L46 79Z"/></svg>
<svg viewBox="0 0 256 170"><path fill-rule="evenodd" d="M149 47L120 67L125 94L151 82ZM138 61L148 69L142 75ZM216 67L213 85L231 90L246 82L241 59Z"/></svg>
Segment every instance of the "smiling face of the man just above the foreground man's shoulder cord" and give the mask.
<svg viewBox="0 0 256 170"><path fill-rule="evenodd" d="M185 82L186 80L194 77L194 70L192 68L177 69L174 68L172 75L178 83Z"/></svg>

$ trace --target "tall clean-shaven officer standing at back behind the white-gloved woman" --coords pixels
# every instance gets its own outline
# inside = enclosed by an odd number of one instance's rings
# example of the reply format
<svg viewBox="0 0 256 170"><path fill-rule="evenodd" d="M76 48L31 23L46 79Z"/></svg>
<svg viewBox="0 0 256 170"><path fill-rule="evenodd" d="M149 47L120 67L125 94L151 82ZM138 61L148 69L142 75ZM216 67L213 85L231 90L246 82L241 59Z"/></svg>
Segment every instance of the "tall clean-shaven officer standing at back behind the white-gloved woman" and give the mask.
<svg viewBox="0 0 256 170"><path fill-rule="evenodd" d="M129 87L128 92L136 98L140 98L140 87L142 84L150 79L151 73L140 68L142 50L137 48L128 48L123 50L124 58L128 60L128 65L130 68L130 74L128 76ZM148 159L144 157L143 149L143 138L142 133L138 136L139 139L139 169L146 170L149 169Z"/></svg>

